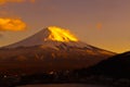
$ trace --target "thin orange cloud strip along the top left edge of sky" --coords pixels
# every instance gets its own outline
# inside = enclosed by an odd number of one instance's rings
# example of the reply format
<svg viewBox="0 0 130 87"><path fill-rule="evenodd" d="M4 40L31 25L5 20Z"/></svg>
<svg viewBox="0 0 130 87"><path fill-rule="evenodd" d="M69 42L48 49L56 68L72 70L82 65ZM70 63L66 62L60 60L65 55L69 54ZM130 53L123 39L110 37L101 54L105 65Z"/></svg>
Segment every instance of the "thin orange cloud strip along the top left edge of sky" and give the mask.
<svg viewBox="0 0 130 87"><path fill-rule="evenodd" d="M11 3L11 2L21 3L26 1L35 2L36 0L0 0L0 5L3 5L5 3Z"/></svg>

